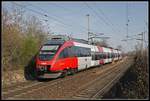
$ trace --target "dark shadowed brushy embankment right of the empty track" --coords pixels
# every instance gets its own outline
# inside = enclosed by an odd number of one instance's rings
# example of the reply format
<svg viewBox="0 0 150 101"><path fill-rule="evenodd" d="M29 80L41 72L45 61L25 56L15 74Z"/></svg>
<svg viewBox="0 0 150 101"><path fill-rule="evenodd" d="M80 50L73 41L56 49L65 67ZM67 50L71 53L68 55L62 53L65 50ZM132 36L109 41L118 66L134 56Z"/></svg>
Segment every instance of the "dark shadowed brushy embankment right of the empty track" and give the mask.
<svg viewBox="0 0 150 101"><path fill-rule="evenodd" d="M114 85L103 99L148 99L149 98L148 53L137 52L134 64Z"/></svg>

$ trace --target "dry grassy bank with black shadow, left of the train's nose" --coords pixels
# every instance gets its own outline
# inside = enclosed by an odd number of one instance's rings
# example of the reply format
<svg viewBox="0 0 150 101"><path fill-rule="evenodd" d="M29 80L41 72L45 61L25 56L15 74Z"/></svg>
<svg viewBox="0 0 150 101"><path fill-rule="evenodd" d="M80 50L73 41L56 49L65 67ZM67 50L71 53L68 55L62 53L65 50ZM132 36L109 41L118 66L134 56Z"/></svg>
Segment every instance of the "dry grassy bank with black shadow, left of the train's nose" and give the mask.
<svg viewBox="0 0 150 101"><path fill-rule="evenodd" d="M10 87L20 83L33 81L36 79L34 58L24 67L17 70L7 70L2 72L2 87Z"/></svg>

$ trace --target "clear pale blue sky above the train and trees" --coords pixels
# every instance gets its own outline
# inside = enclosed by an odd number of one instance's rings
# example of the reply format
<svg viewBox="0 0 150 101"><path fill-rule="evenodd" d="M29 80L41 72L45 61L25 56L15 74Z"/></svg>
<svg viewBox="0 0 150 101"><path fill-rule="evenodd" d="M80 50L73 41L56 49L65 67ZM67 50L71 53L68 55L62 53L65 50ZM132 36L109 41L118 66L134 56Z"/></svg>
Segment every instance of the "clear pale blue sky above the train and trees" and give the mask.
<svg viewBox="0 0 150 101"><path fill-rule="evenodd" d="M41 21L47 19L51 32L55 34L71 34L75 38L87 39L87 16L90 14L90 31L104 33L103 36L110 37L107 40L111 47L118 45L123 51L134 49L136 40L128 42L121 41L126 38L127 3L129 27L128 35L136 35L146 29L145 22L148 22L148 2L16 2L25 5L26 8L47 14L49 18L25 9L26 14L36 16ZM88 6L87 6L88 5ZM2 6L8 9L11 2L3 2ZM92 9L91 9L92 8ZM95 14L96 12L96 14ZM51 19L54 18L54 19ZM56 20L58 21L56 21ZM61 22L61 23L60 23ZM65 25L63 25L64 23ZM148 40L148 34L145 35Z"/></svg>

